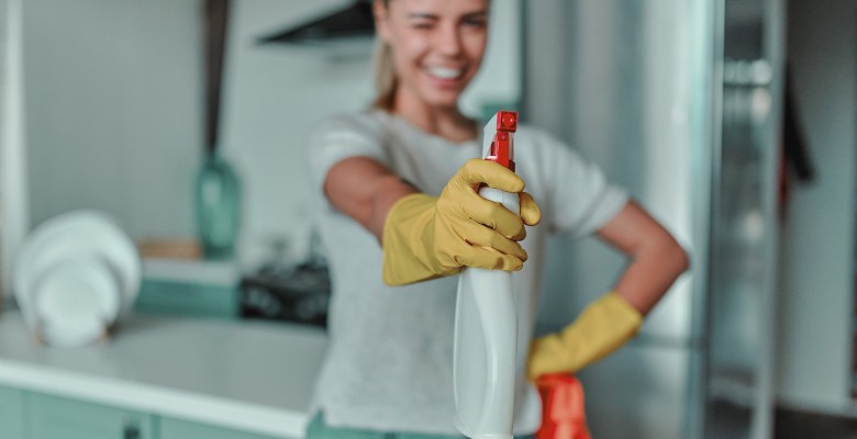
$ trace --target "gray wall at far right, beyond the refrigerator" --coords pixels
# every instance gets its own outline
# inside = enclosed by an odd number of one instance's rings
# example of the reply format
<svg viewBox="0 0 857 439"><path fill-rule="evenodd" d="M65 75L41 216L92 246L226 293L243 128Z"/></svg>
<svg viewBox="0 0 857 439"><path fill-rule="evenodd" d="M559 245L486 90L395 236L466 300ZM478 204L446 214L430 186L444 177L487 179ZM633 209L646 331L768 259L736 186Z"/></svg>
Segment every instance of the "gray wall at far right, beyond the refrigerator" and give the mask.
<svg viewBox="0 0 857 439"><path fill-rule="evenodd" d="M789 1L794 100L817 177L792 184L781 248L779 394L852 413L857 2Z"/></svg>

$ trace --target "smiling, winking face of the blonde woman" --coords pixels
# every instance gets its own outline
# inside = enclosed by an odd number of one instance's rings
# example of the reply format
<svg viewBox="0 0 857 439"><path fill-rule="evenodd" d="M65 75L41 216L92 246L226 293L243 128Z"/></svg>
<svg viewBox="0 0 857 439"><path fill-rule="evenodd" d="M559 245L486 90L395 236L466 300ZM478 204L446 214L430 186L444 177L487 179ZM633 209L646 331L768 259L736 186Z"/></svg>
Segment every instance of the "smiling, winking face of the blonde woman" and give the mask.
<svg viewBox="0 0 857 439"><path fill-rule="evenodd" d="M397 101L454 108L476 76L488 36L489 0L376 2L378 35L390 45Z"/></svg>

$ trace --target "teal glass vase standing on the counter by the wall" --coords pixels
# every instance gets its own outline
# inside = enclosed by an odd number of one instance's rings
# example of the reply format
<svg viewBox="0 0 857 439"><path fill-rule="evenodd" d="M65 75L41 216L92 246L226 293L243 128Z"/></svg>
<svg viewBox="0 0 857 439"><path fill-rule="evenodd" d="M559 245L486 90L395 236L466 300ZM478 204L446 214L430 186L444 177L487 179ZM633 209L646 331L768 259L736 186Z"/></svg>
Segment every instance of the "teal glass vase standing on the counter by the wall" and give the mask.
<svg viewBox="0 0 857 439"><path fill-rule="evenodd" d="M209 153L193 188L197 233L205 259L230 259L241 228L241 182L216 151Z"/></svg>

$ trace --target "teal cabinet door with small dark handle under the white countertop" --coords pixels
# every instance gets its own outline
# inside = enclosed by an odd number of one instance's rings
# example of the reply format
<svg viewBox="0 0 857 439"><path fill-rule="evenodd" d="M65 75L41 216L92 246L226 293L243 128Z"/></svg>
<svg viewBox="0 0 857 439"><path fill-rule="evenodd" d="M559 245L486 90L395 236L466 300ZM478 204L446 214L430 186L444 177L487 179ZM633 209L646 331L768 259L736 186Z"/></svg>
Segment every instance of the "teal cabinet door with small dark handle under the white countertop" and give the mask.
<svg viewBox="0 0 857 439"><path fill-rule="evenodd" d="M30 395L30 439L153 439L152 419L118 407Z"/></svg>

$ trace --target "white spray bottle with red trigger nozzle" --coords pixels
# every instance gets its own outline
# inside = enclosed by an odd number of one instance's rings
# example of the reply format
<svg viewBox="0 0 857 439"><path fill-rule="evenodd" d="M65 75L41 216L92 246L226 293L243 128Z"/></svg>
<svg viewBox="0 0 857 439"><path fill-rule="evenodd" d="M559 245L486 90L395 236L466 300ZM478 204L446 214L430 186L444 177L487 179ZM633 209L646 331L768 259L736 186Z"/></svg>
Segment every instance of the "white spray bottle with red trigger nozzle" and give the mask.
<svg viewBox="0 0 857 439"><path fill-rule="evenodd" d="M514 171L517 113L499 111L483 130L482 157ZM520 213L516 193L482 187L479 195ZM511 439L517 313L512 273L468 268L455 309L455 426L472 439Z"/></svg>

